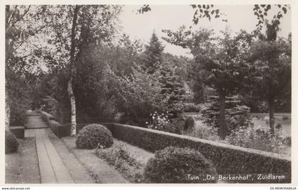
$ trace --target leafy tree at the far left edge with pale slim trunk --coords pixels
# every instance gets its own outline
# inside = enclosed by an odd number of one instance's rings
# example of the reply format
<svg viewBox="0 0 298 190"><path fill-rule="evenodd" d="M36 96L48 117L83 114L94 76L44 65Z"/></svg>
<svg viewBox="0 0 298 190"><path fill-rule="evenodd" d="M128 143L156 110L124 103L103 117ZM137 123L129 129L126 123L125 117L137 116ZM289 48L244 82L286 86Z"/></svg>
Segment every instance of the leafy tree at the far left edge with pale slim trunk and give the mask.
<svg viewBox="0 0 298 190"><path fill-rule="evenodd" d="M23 105L14 104L14 110L21 111L19 113L24 115L28 105L25 104L25 91L17 89L19 84L13 82L20 82L20 80L27 80L32 77L34 72L39 69L35 66L37 62L30 60L28 57L34 52L24 51L22 47L36 34L40 33L45 27L40 24L38 15L40 13L39 7L35 10L31 6L17 6L6 5L6 19L5 19L5 126L8 128L11 120L11 103L16 103L17 99L23 100ZM24 82L26 83L26 82ZM16 93L18 92L18 93ZM24 96L23 96L24 95ZM26 98L28 99L28 97ZM17 100L18 101L18 100Z"/></svg>

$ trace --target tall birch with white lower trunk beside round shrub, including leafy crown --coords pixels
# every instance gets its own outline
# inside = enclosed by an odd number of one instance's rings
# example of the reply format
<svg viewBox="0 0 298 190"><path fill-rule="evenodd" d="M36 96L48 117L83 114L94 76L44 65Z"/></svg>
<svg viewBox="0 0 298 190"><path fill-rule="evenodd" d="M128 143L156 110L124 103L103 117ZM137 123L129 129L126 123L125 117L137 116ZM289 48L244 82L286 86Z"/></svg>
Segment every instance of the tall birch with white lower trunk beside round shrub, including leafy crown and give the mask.
<svg viewBox="0 0 298 190"><path fill-rule="evenodd" d="M111 40L121 6L44 6L43 20L48 23L47 45L43 57L51 70L67 68L67 91L71 104L71 134L76 135L74 80L77 64L84 51ZM70 25L70 23L72 23Z"/></svg>

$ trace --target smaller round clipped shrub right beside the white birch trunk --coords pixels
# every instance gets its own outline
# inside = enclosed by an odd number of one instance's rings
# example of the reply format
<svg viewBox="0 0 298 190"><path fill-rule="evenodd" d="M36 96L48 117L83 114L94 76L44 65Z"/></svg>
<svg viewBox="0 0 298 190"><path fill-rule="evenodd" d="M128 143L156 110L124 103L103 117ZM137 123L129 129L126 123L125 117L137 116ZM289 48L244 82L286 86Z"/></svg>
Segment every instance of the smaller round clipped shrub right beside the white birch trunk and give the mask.
<svg viewBox="0 0 298 190"><path fill-rule="evenodd" d="M111 147L113 136L104 125L90 124L79 131L75 141L78 148L92 149L94 147Z"/></svg>

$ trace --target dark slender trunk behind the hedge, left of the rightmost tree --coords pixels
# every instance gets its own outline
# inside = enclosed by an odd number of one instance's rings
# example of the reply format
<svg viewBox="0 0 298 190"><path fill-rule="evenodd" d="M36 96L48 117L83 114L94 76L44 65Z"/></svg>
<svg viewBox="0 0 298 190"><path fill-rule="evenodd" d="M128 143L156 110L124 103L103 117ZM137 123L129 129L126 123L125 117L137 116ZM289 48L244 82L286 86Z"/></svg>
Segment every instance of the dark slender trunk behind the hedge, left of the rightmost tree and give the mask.
<svg viewBox="0 0 298 190"><path fill-rule="evenodd" d="M219 136L221 140L226 139L226 97L219 94Z"/></svg>

